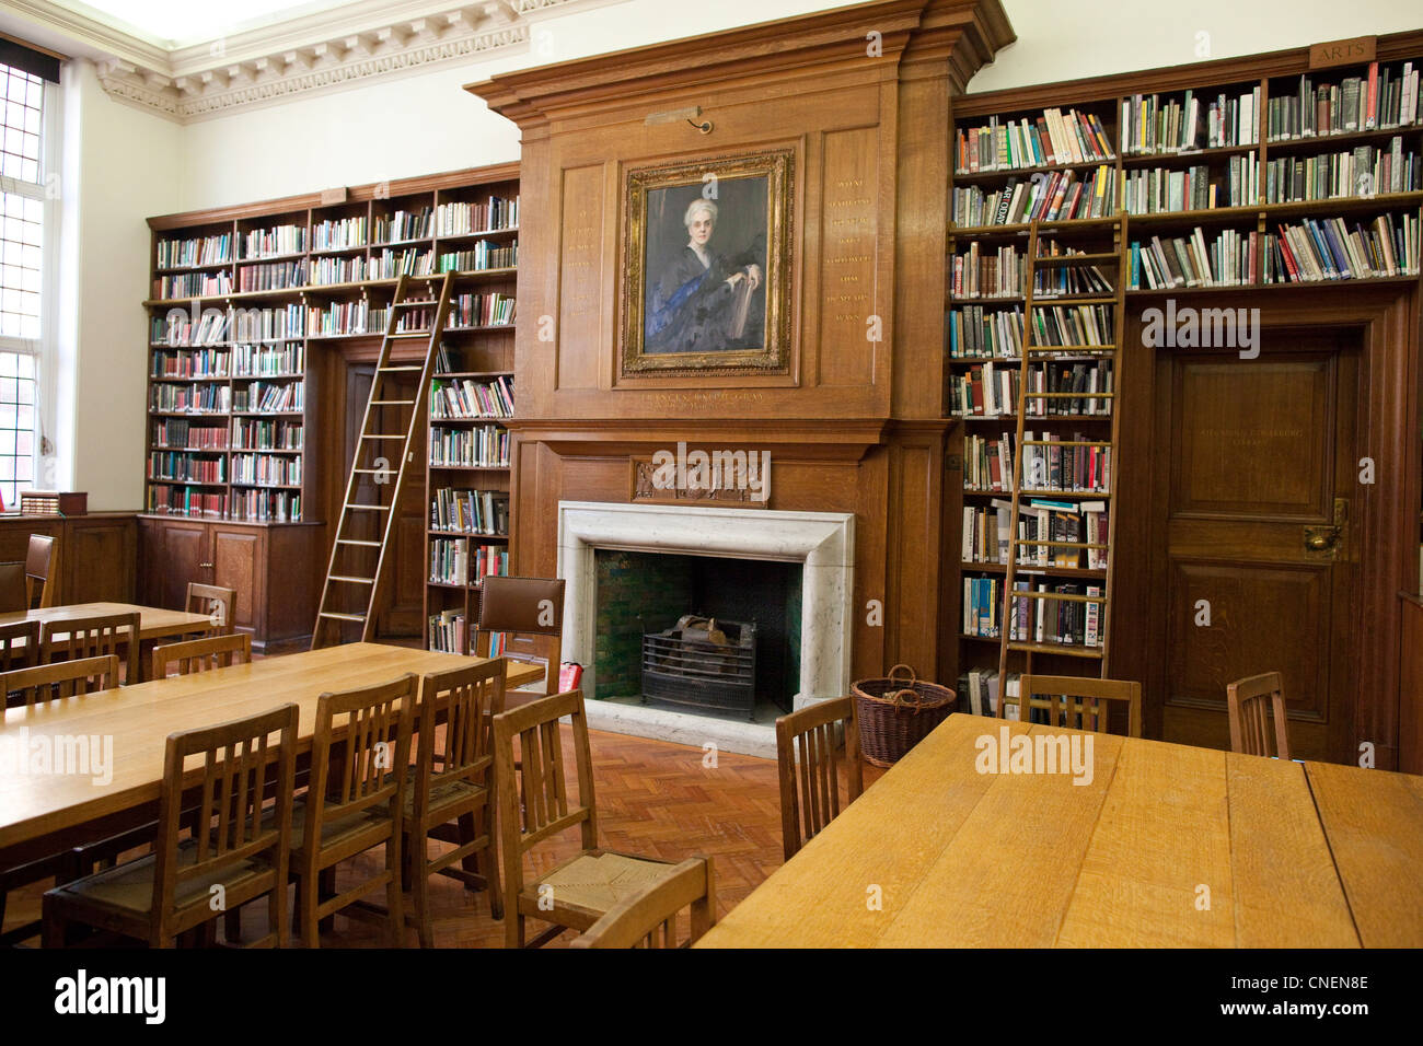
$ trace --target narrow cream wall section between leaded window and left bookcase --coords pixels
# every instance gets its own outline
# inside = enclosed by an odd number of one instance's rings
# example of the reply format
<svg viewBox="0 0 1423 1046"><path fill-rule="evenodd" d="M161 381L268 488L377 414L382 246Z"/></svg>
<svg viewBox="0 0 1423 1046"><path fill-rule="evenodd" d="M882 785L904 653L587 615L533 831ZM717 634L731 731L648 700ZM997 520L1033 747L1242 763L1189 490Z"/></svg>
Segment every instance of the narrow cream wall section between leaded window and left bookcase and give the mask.
<svg viewBox="0 0 1423 1046"><path fill-rule="evenodd" d="M181 128L112 101L87 61L64 77L54 481L88 491L91 511L132 509L144 497L144 219L178 199Z"/></svg>

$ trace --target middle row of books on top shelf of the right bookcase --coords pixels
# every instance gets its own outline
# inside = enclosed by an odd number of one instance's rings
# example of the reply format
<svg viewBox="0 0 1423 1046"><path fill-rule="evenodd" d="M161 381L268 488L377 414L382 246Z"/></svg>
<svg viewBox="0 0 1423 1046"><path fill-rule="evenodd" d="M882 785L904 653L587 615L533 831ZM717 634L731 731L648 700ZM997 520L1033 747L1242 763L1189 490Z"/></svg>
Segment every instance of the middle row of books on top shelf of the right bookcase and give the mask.
<svg viewBox="0 0 1423 1046"><path fill-rule="evenodd" d="M1191 90L1164 102L1158 94L1134 94L1121 100L1120 131L1124 157L1254 145L1259 141L1259 88L1235 97L1221 91L1204 111Z"/></svg>

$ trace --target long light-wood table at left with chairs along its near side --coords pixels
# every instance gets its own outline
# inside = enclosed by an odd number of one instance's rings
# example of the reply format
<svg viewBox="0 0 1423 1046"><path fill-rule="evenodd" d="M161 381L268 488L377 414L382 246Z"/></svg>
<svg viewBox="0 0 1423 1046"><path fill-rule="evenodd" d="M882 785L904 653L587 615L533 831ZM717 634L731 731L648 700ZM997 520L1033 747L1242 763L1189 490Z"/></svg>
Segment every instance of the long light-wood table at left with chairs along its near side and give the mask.
<svg viewBox="0 0 1423 1046"><path fill-rule="evenodd" d="M474 659L451 653L349 643L155 679L28 709L7 709L0 744L21 737L31 746L40 739L53 746L57 737L111 737L112 780L95 784L90 774L0 774L0 868L54 852L57 842L83 841L94 835L95 827L107 834L129 823L141 824L144 817L151 820L152 814L144 807L157 805L165 743L176 730L243 719L292 702L302 710L300 754L312 747L316 702L323 692L371 686L406 672L424 675L471 663ZM539 666L508 662L509 686L542 676Z"/></svg>

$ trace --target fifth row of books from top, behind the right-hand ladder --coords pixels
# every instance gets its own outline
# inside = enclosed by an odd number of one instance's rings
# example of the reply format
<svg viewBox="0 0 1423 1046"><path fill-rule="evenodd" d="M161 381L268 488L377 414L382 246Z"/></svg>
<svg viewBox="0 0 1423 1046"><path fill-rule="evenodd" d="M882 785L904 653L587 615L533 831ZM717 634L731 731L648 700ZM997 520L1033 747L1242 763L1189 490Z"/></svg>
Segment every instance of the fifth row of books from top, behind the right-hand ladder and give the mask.
<svg viewBox="0 0 1423 1046"><path fill-rule="evenodd" d="M1016 417L1020 370L985 363L949 376L949 414L953 417ZM1111 414L1111 361L1029 364L1027 417ZM1073 393L1072 397L1033 397L1033 393Z"/></svg>

